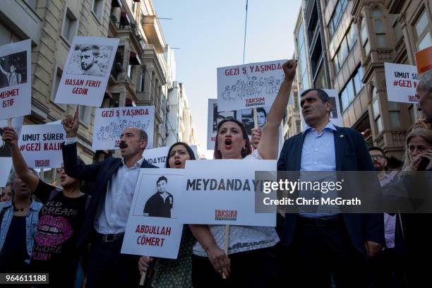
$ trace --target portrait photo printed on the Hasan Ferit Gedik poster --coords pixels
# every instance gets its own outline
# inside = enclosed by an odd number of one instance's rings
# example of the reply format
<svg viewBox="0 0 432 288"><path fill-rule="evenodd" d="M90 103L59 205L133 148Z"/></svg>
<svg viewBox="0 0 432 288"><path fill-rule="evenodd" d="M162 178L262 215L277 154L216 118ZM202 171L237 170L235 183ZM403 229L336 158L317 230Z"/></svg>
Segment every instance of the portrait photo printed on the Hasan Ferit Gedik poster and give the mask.
<svg viewBox="0 0 432 288"><path fill-rule="evenodd" d="M103 77L109 72L112 50L112 46L76 44L66 73Z"/></svg>

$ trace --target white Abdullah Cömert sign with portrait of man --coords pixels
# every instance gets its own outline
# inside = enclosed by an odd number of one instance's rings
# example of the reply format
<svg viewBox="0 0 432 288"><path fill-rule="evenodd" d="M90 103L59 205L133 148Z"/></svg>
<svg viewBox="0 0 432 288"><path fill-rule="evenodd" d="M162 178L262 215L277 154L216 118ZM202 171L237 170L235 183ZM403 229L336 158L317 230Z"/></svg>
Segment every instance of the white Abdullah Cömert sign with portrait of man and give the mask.
<svg viewBox="0 0 432 288"><path fill-rule="evenodd" d="M140 169L121 253L177 258L184 169Z"/></svg>

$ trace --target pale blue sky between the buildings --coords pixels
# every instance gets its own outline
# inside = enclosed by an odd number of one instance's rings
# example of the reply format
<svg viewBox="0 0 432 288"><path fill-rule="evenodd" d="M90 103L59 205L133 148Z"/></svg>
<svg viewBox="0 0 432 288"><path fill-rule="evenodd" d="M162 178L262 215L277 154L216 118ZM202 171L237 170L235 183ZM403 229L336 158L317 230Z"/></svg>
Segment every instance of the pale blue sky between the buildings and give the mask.
<svg viewBox="0 0 432 288"><path fill-rule="evenodd" d="M243 64L246 0L152 0L167 44L176 47L176 80L184 83L201 149L207 148L208 99L216 69ZM291 59L301 0L248 0L245 64ZM211 155L207 152L206 155Z"/></svg>

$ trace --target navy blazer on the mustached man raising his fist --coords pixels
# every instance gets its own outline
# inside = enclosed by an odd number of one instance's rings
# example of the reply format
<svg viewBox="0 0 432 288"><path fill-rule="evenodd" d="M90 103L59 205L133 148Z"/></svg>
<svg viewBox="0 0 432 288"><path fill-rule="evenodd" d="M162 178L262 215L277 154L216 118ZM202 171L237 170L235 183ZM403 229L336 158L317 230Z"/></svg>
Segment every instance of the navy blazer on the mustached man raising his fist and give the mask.
<svg viewBox="0 0 432 288"><path fill-rule="evenodd" d="M75 179L94 181L93 191L89 191L92 198L88 204L88 208L85 211L85 220L81 233L78 238L77 246L82 246L88 242L88 237L92 232L93 224L95 222L95 216L97 212L97 206L99 201L103 199L107 193L108 181L111 176L121 167L121 158L109 157L102 162L94 164L81 164L78 162L76 153L76 143L70 145L62 145L64 171L68 176ZM147 161L143 161L141 168L157 168L155 165L148 164Z"/></svg>

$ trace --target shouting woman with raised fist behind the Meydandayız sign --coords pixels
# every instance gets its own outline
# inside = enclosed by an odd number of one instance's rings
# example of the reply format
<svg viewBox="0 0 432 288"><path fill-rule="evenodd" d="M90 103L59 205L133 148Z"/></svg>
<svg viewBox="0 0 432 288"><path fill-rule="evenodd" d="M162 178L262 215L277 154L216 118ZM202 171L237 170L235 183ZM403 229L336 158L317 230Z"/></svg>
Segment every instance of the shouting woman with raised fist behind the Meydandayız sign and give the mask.
<svg viewBox="0 0 432 288"><path fill-rule="evenodd" d="M263 127L258 148L251 151L246 129L241 122L225 119L217 126L215 159L275 160L278 152L278 128L289 100L296 61L282 65L284 81ZM245 163L247 164L247 163ZM198 243L193 246L193 287L268 287L271 282L270 247L279 237L274 227L232 226L228 255L224 247L225 226L190 224ZM253 275L253 271L256 271ZM222 279L225 276L227 279Z"/></svg>

